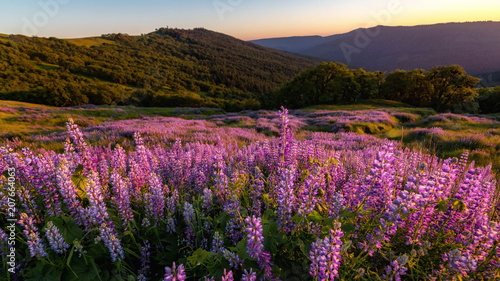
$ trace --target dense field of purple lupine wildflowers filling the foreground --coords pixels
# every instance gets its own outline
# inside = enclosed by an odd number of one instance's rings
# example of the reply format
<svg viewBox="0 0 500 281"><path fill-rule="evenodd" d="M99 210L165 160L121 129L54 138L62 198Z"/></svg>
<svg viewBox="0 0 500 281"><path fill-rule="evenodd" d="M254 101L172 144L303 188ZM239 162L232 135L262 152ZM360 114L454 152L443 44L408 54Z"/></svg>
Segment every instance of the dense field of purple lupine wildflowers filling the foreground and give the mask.
<svg viewBox="0 0 500 281"><path fill-rule="evenodd" d="M500 278L495 118L196 114L3 141L0 279Z"/></svg>

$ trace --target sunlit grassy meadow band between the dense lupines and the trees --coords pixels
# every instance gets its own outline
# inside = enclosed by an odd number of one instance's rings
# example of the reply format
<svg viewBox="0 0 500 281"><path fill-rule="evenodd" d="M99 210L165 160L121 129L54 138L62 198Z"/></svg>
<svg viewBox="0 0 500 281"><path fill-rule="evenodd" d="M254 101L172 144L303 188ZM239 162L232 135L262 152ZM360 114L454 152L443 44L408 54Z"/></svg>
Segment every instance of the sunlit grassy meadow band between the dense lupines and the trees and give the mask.
<svg viewBox="0 0 500 281"><path fill-rule="evenodd" d="M1 143L15 143L18 147L29 145L61 150L62 143L52 142L50 136L64 134L69 118L84 130L91 131L102 124L146 117L176 117L220 127L245 128L263 138L279 133L277 115L266 110L226 113L211 108L93 105L59 108L0 101L0 138ZM481 166L492 163L493 171L500 174L498 114L437 113L431 108L416 108L394 101L367 100L359 104L319 105L292 110L290 120L297 138L306 138L313 132L353 132L397 140L405 147L422 149L442 158L460 157L468 150L470 160ZM147 134L154 136L155 132ZM119 138L126 137L114 137ZM96 141L100 140L102 138L96 136Z"/></svg>

